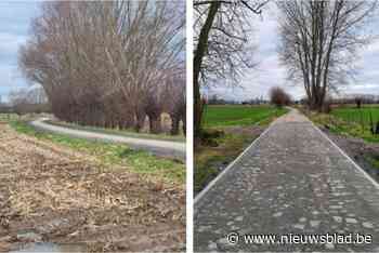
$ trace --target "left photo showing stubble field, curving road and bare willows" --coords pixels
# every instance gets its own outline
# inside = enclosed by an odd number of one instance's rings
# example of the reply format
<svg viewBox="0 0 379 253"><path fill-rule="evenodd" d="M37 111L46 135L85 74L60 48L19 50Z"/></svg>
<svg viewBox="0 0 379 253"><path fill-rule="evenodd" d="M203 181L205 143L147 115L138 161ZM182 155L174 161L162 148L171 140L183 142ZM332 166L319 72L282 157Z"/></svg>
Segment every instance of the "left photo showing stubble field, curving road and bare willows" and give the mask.
<svg viewBox="0 0 379 253"><path fill-rule="evenodd" d="M1 1L0 252L185 251L185 1Z"/></svg>

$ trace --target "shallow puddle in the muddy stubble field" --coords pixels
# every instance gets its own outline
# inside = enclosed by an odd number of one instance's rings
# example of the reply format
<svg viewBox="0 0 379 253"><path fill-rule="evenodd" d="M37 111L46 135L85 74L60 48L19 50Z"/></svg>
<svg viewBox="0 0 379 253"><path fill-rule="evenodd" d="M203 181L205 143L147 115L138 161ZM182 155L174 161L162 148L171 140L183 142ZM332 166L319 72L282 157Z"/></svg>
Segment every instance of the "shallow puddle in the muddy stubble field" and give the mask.
<svg viewBox="0 0 379 253"><path fill-rule="evenodd" d="M52 242L37 242L37 243L26 244L23 249L19 249L17 251L11 251L10 253L21 253L21 252L81 253L87 251L86 251L86 247L82 244L56 244Z"/></svg>

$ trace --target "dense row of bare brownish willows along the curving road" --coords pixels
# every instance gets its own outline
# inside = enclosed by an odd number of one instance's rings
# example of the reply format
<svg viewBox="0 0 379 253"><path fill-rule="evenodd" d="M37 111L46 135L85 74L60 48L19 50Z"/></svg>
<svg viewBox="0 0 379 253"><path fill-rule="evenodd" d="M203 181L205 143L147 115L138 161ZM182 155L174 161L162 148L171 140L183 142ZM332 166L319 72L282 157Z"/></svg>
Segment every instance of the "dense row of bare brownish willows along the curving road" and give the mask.
<svg viewBox="0 0 379 253"><path fill-rule="evenodd" d="M185 130L184 2L44 2L18 65L60 119L140 131ZM185 131L184 131L185 132Z"/></svg>

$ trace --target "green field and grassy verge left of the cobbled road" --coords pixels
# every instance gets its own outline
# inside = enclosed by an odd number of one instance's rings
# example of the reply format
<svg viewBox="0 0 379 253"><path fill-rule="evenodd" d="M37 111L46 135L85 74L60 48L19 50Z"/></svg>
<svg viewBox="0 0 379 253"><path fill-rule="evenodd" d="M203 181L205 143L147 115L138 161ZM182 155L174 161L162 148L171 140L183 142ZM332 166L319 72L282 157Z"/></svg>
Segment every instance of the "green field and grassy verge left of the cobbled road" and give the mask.
<svg viewBox="0 0 379 253"><path fill-rule="evenodd" d="M219 115L219 111L223 117ZM205 121L208 122L205 133L210 136L207 143L211 145L202 144L195 149L195 194L204 189L228 163L236 159L275 118L287 111L288 109L285 108L276 109L267 106L208 108L205 115Z"/></svg>

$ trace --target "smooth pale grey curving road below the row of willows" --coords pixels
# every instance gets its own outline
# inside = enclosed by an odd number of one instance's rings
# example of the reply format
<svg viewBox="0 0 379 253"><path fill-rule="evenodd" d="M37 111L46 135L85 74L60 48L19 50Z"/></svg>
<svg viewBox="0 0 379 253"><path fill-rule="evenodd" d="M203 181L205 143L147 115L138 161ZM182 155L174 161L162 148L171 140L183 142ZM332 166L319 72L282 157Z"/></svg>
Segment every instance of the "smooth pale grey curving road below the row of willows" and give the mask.
<svg viewBox="0 0 379 253"><path fill-rule="evenodd" d="M147 138L136 138L136 137L126 137L113 134L94 133L83 130L74 130L63 126L52 125L43 122L48 119L42 118L31 121L30 124L39 130L67 134L74 137L104 141L113 143L125 143L128 146L135 149L144 149L154 155L160 157L170 157L180 160L185 160L185 143L180 142L169 142L169 141L158 141L158 139L147 139Z"/></svg>

